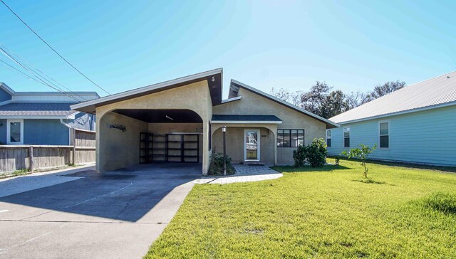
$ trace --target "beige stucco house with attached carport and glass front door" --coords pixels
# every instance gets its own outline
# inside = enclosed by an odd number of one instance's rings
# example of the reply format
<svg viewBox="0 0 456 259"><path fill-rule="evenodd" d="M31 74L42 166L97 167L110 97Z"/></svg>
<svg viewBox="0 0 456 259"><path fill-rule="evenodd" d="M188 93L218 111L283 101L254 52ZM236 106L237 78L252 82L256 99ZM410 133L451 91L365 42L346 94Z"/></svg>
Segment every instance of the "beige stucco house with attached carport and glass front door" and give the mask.
<svg viewBox="0 0 456 259"><path fill-rule="evenodd" d="M108 95L71 107L96 115L98 171L140 163L234 162L292 164L293 150L325 137L334 122L232 80L222 100L222 68Z"/></svg>

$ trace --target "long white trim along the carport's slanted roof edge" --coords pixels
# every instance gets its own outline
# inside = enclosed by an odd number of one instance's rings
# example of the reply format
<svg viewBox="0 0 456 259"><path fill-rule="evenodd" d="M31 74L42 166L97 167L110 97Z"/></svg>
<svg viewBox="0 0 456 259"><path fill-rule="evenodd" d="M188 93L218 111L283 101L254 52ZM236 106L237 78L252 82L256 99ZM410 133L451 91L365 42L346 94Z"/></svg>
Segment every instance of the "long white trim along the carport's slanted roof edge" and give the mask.
<svg viewBox="0 0 456 259"><path fill-rule="evenodd" d="M122 92L122 93L116 93L114 95L108 95L108 96L101 97L101 98L95 99L95 100L88 100L87 102L81 102L81 103L78 103L76 105L71 105L71 110L81 109L82 107L87 107L87 106L90 106L90 105L97 105L98 103L108 102L108 101L115 100L115 99L118 99L118 98L121 98L121 97L128 97L130 95L138 95L138 94L141 94L141 93L149 92L151 90L157 90L157 89L160 89L160 88L165 88L165 87L170 86L170 85L177 85L177 84L180 84L180 83L185 83L187 81L196 80L196 79L199 79L199 78L206 78L206 77L208 77L210 75L217 75L219 73L222 73L222 68L217 68L217 69L214 69L214 70L209 70L209 71L206 71L206 72L197 73L195 75L188 75L188 76L185 76L183 78L177 78L177 79L174 79L174 80L169 80L169 81L165 81L165 82L162 82L162 83L157 83L155 85L147 85L147 86L142 87L142 88L136 88L136 89L133 89L133 90L128 90L128 91Z"/></svg>

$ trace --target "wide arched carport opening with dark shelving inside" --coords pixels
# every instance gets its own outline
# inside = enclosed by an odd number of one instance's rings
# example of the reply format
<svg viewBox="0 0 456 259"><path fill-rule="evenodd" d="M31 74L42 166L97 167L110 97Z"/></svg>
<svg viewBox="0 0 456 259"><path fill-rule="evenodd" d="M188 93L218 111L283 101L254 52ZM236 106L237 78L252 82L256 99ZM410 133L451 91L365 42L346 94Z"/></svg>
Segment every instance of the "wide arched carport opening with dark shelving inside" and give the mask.
<svg viewBox="0 0 456 259"><path fill-rule="evenodd" d="M116 109L99 120L100 171L202 162L203 120L192 110Z"/></svg>

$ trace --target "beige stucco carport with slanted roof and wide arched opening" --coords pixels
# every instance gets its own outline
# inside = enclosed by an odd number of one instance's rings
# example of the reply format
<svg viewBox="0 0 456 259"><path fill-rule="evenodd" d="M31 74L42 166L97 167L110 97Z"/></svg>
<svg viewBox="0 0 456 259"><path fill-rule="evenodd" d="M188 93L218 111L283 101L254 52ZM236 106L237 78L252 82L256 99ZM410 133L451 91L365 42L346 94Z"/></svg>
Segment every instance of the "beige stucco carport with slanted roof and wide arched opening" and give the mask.
<svg viewBox="0 0 456 259"><path fill-rule="evenodd" d="M212 106L222 102L222 69L73 105L96 114L100 172L138 164L209 166Z"/></svg>

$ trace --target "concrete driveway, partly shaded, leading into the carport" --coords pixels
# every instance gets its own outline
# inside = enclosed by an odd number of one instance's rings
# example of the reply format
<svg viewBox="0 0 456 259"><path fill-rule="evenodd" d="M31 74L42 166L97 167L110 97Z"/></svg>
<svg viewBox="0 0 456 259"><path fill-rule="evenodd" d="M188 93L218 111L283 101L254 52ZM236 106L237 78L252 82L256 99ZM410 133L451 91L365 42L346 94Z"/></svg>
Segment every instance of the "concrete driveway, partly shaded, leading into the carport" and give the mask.
<svg viewBox="0 0 456 259"><path fill-rule="evenodd" d="M0 197L0 258L140 258L200 176L201 164L83 171Z"/></svg>

